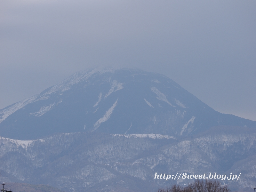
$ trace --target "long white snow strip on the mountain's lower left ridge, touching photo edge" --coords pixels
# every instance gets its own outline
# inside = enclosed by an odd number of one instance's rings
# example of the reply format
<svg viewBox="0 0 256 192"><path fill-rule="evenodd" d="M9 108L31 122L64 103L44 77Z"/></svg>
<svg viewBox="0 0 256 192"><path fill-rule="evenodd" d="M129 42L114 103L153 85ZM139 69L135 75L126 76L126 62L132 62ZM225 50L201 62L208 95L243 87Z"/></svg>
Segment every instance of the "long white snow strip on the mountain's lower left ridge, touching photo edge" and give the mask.
<svg viewBox="0 0 256 192"><path fill-rule="evenodd" d="M38 95L29 97L27 99L24 99L24 100L18 102L18 103L15 103L14 105L12 105L9 108L0 110L0 115L1 115L0 123L2 123L4 121L4 119L6 119L9 115L14 113L15 111L19 110L20 108L25 107L25 105L28 105L29 103L32 103L33 101L35 101L37 97L38 97Z"/></svg>

